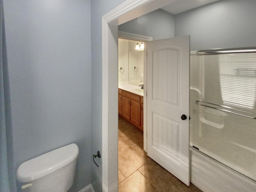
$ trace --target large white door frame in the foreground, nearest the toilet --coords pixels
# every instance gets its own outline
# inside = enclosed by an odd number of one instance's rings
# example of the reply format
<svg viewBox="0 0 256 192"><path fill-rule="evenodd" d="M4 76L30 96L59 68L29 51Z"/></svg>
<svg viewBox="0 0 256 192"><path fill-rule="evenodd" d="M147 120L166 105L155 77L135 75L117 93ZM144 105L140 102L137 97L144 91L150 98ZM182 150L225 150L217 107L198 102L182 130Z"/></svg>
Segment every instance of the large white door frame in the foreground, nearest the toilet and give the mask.
<svg viewBox="0 0 256 192"><path fill-rule="evenodd" d="M118 25L176 0L127 0L102 16L102 191L118 191Z"/></svg>

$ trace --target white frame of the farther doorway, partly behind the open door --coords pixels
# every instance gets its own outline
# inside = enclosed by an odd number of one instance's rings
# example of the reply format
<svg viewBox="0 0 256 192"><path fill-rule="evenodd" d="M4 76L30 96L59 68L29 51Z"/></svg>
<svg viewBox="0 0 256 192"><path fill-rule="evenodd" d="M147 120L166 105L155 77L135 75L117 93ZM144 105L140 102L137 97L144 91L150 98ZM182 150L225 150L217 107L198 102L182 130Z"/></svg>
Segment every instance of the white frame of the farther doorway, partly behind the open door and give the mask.
<svg viewBox="0 0 256 192"><path fill-rule="evenodd" d="M124 31L118 31L118 38L128 39L128 40L136 40L136 41L143 41L144 42L144 96L143 96L143 149L147 152L147 42L152 41L153 37L144 36L134 33L128 33Z"/></svg>

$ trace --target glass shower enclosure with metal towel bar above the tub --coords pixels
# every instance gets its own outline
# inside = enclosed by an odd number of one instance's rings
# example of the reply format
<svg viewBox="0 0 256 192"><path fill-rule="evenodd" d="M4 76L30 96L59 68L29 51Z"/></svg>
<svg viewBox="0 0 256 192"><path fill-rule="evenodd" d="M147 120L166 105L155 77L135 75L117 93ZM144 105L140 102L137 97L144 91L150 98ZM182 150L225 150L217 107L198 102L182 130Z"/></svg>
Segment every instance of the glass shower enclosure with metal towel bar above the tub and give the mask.
<svg viewBox="0 0 256 192"><path fill-rule="evenodd" d="M254 181L255 51L212 50L190 57L190 145Z"/></svg>

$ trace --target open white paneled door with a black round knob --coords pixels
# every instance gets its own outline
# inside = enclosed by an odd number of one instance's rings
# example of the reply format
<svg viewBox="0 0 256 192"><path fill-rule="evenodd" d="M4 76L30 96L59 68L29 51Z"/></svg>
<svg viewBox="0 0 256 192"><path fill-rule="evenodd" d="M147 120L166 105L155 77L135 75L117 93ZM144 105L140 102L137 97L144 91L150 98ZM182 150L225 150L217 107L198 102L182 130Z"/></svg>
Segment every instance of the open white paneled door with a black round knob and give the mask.
<svg viewBox="0 0 256 192"><path fill-rule="evenodd" d="M148 42L147 52L148 156L189 186L190 36Z"/></svg>

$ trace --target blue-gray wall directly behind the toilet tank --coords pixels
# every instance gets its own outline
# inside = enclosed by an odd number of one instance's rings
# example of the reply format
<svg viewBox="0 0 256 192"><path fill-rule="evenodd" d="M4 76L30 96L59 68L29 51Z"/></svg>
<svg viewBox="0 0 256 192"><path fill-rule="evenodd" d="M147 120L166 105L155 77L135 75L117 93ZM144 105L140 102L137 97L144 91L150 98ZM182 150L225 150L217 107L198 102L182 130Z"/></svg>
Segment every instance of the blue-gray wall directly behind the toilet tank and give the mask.
<svg viewBox="0 0 256 192"><path fill-rule="evenodd" d="M71 191L91 183L90 0L4 0L14 166L79 147Z"/></svg>

